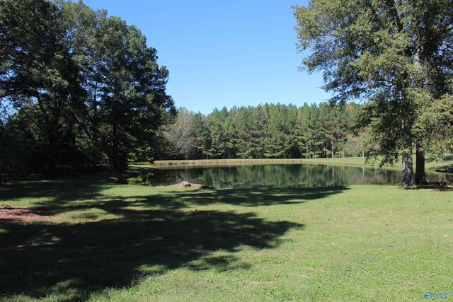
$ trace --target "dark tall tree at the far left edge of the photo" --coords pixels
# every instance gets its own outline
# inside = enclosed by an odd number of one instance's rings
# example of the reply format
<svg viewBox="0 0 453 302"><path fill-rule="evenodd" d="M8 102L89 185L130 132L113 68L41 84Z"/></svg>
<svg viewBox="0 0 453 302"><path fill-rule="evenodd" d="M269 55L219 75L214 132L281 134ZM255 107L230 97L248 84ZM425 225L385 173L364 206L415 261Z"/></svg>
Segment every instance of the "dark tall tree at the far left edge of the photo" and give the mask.
<svg viewBox="0 0 453 302"><path fill-rule="evenodd" d="M44 173L79 157L74 116L83 91L60 13L49 1L0 6L0 101L27 121L24 131L35 141L35 163Z"/></svg>

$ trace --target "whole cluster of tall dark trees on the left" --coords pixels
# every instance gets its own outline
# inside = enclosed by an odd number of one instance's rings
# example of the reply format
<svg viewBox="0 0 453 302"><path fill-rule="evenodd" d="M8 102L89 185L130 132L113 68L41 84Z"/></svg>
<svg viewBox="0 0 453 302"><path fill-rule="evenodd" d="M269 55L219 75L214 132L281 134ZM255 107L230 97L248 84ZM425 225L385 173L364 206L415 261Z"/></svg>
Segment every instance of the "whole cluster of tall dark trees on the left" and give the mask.
<svg viewBox="0 0 453 302"><path fill-rule="evenodd" d="M139 29L81 1L0 4L0 172L55 175L149 160L174 111Z"/></svg>

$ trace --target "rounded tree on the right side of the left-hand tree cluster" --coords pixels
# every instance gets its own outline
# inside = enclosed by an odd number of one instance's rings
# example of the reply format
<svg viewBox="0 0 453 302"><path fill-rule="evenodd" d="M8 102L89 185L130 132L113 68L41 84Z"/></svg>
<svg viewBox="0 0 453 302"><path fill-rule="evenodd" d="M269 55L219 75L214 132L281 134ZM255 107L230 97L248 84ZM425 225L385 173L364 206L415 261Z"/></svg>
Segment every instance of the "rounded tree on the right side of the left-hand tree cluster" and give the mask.
<svg viewBox="0 0 453 302"><path fill-rule="evenodd" d="M86 141L115 170L124 170L128 158L151 160L164 110L173 108L166 67L157 64L156 50L133 25L81 2L61 6L69 51L83 74Z"/></svg>

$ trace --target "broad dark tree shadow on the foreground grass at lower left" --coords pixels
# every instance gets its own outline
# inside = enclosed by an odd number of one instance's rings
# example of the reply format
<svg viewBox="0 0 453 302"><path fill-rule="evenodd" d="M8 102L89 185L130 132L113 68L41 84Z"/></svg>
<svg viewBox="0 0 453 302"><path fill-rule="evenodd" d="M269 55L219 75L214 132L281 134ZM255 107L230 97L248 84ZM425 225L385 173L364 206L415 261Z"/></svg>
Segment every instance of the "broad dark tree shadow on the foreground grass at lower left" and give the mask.
<svg viewBox="0 0 453 302"><path fill-rule="evenodd" d="M234 267L234 252L241 246L273 248L290 228L303 228L233 211L113 212L122 212L124 219L2 226L6 232L0 233L0 293L84 300L93 291L130 286L135 279L168 269L228 269ZM216 251L231 256L207 257L201 266L190 263Z"/></svg>

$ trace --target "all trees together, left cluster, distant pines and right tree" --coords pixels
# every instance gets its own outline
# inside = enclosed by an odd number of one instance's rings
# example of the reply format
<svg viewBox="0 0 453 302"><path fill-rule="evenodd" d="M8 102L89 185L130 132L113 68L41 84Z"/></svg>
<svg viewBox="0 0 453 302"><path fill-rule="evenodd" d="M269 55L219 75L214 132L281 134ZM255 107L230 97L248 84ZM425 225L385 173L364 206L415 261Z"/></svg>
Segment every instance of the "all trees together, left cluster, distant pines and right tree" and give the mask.
<svg viewBox="0 0 453 302"><path fill-rule="evenodd" d="M156 159L366 156L402 157L402 182L425 182L425 153L453 150L451 1L340 2L293 7L301 68L323 72L331 100L202 115L176 110L134 25L82 1L1 1L3 181Z"/></svg>

